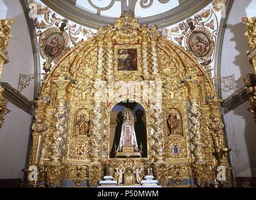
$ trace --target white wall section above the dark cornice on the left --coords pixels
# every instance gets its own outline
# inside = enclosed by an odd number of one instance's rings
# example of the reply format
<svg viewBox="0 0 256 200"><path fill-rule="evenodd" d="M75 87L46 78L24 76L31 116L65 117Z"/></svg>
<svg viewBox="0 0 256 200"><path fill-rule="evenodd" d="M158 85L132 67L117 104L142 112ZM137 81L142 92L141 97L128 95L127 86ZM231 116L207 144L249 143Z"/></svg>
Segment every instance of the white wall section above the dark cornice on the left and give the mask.
<svg viewBox="0 0 256 200"><path fill-rule="evenodd" d="M9 83L13 88L18 89L19 74L35 74L33 49L29 35L26 17L19 0L3 0L8 7L6 19L14 19L15 23L11 26L13 37L9 40L6 49L10 62L4 66L2 82ZM29 100L34 98L34 81L22 94Z"/></svg>

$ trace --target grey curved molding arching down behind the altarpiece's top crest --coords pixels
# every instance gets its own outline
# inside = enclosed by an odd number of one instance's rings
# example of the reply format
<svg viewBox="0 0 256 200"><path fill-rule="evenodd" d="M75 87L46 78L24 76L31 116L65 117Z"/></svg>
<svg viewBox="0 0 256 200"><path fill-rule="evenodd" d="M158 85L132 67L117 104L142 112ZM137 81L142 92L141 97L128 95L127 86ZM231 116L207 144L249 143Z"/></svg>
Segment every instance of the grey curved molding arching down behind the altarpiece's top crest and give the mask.
<svg viewBox="0 0 256 200"><path fill-rule="evenodd" d="M73 22L86 27L97 29L107 24L114 24L114 17L105 17L93 14L83 9L77 8L71 2L65 0L41 0L49 8L53 9L61 16L70 19ZM139 18L140 24L147 24L148 26L157 26L158 28L168 27L176 24L184 19L187 19L196 12L205 8L213 0L188 0L183 2L180 6L171 9L170 11L157 14L151 17Z"/></svg>

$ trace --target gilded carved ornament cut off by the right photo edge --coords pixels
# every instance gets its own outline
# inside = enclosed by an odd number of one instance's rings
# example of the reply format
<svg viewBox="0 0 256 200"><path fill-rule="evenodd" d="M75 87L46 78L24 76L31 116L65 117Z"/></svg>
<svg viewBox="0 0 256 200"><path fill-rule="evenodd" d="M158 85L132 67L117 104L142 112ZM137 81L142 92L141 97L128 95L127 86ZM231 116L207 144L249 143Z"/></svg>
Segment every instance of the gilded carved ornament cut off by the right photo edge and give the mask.
<svg viewBox="0 0 256 200"><path fill-rule="evenodd" d="M243 22L246 23L247 27L245 36L248 38L248 45L253 50L252 53L248 53L248 61L250 61L254 69L254 74L247 74L244 82L247 87L247 95L250 97L249 102L252 105L251 108L248 108L248 111L254 115L256 121L256 17L250 19L245 17Z"/></svg>

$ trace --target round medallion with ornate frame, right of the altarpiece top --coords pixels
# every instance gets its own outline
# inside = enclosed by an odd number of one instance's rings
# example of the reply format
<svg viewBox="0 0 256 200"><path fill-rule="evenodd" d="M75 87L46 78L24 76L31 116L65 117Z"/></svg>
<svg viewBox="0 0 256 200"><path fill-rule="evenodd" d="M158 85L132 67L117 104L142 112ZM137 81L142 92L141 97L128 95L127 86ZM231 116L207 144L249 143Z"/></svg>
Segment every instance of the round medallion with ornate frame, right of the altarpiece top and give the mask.
<svg viewBox="0 0 256 200"><path fill-rule="evenodd" d="M210 59L215 48L215 42L212 39L211 32L205 27L198 27L190 31L186 37L186 47L196 59Z"/></svg>

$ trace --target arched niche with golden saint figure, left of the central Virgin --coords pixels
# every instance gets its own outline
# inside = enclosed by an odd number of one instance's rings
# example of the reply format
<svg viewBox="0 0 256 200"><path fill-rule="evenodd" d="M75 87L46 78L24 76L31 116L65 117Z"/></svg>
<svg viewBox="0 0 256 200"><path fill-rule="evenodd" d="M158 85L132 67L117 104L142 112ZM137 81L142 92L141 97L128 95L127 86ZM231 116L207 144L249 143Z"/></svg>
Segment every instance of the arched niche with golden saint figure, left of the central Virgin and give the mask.
<svg viewBox="0 0 256 200"><path fill-rule="evenodd" d="M75 135L76 136L90 136L90 112L86 109L78 111L75 119Z"/></svg>

